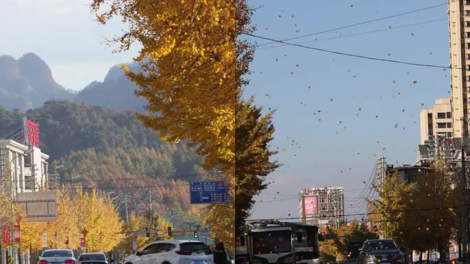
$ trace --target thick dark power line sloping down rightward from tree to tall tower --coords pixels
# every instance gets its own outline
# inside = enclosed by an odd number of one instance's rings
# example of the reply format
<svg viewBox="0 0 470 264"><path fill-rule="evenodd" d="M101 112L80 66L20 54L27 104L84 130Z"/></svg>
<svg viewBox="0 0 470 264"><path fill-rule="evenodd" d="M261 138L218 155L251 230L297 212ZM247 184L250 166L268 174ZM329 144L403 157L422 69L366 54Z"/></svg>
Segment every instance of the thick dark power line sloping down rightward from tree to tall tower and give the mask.
<svg viewBox="0 0 470 264"><path fill-rule="evenodd" d="M362 56L362 55L357 55L357 54L350 54L350 53L346 53L346 52L335 52L333 50L324 50L324 49L320 49L318 47L309 47L309 46L306 46L306 45L300 45L300 44L295 44L295 43L289 43L289 42L285 42L285 41L280 41L280 40L277 40L277 39L270 39L270 38L267 38L265 36L258 36L258 35L255 35L255 34L249 34L249 33L243 33L247 36L252 36L254 38L258 38L258 39L265 39L267 41L274 41L274 42L277 42L277 43L283 43L283 44L286 44L286 45L291 45L291 46L295 46L295 47L302 47L304 49L307 49L307 50L316 50L318 52L326 52L326 53L330 53L330 54L337 54L337 55L342 55L342 56L350 56L350 57L355 57L355 58L363 58L363 59L366 59L366 60L372 60L372 61L385 61L385 62L388 62L388 63L398 63L398 64L404 64L404 65L413 65L413 66L422 66L422 67L433 67L433 68L439 68L439 69L450 69L451 67L450 66L442 66L442 65L432 65L432 64L424 64L424 63L410 63L410 62L407 62L407 61L396 61L396 60L389 60L387 58L376 58L376 57L370 57L370 56ZM453 69L460 69L458 67L452 67Z"/></svg>

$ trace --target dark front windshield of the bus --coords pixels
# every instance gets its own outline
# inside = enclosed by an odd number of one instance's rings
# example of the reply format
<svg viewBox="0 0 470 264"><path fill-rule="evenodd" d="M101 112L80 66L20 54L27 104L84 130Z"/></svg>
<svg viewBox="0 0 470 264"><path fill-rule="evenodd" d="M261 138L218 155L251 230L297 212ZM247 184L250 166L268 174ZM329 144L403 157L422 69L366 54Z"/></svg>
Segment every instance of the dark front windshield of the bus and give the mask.
<svg viewBox="0 0 470 264"><path fill-rule="evenodd" d="M254 232L253 254L287 253L292 251L291 231Z"/></svg>

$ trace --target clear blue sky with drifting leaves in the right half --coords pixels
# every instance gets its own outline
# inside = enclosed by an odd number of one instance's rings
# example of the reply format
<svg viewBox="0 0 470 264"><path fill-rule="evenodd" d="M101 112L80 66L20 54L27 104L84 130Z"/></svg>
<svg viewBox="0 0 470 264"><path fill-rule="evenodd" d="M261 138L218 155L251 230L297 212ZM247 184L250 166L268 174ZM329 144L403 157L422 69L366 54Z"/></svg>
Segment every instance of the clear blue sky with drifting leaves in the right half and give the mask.
<svg viewBox="0 0 470 264"><path fill-rule="evenodd" d="M253 19L258 28L256 34L289 39L445 1L251 3L258 7ZM437 19L444 20L330 39ZM449 65L445 19L446 5L291 42L314 41L305 45L399 61ZM258 203L253 210L254 219L282 218L289 214L297 217L295 196L305 187L344 186L346 214L356 212L358 208L348 205L357 199L360 192L357 189L364 187L363 181L368 179L379 156L385 155L395 165L415 162L421 104L432 105L436 98L449 96L450 89L449 72L443 69L367 61L299 47L258 50L252 69L254 74L245 95L255 95L256 104L266 110L276 109L273 146L286 148L277 156L284 166L269 176L273 184L256 199L287 199Z"/></svg>

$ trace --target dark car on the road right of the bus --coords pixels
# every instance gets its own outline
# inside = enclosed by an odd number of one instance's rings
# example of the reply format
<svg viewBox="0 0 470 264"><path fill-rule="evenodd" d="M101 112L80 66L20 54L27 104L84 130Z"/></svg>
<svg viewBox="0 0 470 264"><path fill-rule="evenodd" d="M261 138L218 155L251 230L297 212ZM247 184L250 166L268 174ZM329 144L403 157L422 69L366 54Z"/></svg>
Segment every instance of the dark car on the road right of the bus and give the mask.
<svg viewBox="0 0 470 264"><path fill-rule="evenodd" d="M358 264L403 264L405 255L392 239L373 239L363 243Z"/></svg>

